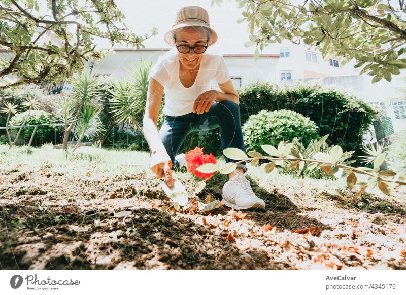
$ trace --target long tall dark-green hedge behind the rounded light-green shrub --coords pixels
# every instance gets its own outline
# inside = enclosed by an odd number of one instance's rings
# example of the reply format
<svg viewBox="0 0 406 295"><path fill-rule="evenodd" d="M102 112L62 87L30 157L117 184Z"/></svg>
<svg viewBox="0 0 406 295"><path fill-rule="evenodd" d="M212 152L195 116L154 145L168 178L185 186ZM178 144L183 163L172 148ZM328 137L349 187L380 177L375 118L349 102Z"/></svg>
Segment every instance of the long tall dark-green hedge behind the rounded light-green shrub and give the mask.
<svg viewBox="0 0 406 295"><path fill-rule="evenodd" d="M365 102L333 87L319 84L279 86L257 82L238 90L241 120L244 123L260 110L290 109L309 117L319 134L330 134L329 144L362 154L362 139L377 112Z"/></svg>

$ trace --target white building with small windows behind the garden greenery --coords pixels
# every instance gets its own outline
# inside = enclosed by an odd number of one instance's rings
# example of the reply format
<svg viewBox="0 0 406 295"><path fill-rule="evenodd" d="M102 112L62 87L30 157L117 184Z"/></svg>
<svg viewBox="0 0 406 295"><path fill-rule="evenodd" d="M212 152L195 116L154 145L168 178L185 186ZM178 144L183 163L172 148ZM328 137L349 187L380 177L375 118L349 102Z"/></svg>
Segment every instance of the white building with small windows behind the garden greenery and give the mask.
<svg viewBox="0 0 406 295"><path fill-rule="evenodd" d="M169 48L116 49L106 59L95 64L93 70L99 75L113 75L116 78L128 75L131 63L141 58L151 58L154 62ZM210 47L207 52L210 52ZM223 53L234 87L239 88L253 81L290 83L293 80L315 81L321 85L335 85L352 93L367 103L375 104L384 113L384 136L399 132L406 126L406 98L400 89L406 89L406 70L401 75L392 76L392 81L382 79L371 84L372 76L359 75L362 68L354 68L355 61L342 66L339 58L322 60L320 52L310 50L307 45L293 44L283 40L281 44L266 47L254 61L252 54ZM215 82L213 81L213 85ZM382 135L378 135L378 140ZM374 135L372 135L374 137ZM374 138L368 138L374 141Z"/></svg>

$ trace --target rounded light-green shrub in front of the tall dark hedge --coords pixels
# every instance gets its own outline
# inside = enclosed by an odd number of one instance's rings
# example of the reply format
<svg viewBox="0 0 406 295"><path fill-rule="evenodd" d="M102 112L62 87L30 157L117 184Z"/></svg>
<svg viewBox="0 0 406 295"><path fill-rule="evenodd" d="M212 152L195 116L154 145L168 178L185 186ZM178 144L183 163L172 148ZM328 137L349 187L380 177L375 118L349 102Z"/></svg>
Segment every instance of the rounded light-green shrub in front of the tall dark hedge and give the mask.
<svg viewBox="0 0 406 295"><path fill-rule="evenodd" d="M292 110L261 110L251 115L243 125L245 147L247 150L259 151L262 144L278 145L281 141L299 139L308 145L317 138L317 126Z"/></svg>

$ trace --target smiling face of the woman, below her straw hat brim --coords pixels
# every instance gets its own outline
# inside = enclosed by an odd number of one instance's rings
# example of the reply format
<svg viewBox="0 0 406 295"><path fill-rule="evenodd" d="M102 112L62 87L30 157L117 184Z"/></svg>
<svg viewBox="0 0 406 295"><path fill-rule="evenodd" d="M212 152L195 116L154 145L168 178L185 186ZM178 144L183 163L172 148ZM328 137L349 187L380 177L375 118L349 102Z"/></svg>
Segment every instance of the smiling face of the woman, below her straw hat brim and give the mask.
<svg viewBox="0 0 406 295"><path fill-rule="evenodd" d="M207 33L199 32L193 27L185 27L176 33L176 45L205 46L207 45ZM193 49L190 49L189 53L178 51L179 61L189 70L197 68L204 55L205 53L195 53Z"/></svg>

